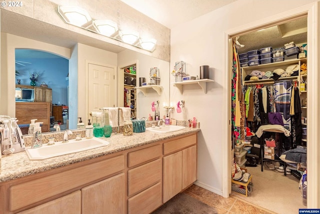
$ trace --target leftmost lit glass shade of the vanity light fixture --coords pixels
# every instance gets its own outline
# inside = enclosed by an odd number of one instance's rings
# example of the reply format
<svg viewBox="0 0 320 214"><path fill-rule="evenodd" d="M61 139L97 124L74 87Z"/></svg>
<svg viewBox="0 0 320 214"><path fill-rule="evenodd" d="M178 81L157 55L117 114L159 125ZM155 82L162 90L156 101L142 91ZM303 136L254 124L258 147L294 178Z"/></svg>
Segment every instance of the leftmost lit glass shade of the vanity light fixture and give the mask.
<svg viewBox="0 0 320 214"><path fill-rule="evenodd" d="M58 6L58 14L66 23L78 27L82 27L92 20L88 12L78 7Z"/></svg>

